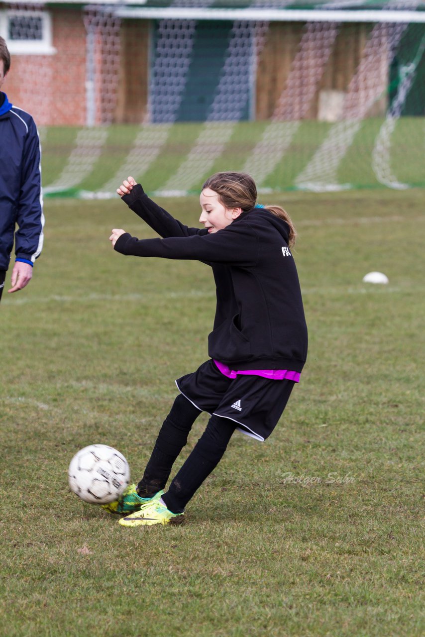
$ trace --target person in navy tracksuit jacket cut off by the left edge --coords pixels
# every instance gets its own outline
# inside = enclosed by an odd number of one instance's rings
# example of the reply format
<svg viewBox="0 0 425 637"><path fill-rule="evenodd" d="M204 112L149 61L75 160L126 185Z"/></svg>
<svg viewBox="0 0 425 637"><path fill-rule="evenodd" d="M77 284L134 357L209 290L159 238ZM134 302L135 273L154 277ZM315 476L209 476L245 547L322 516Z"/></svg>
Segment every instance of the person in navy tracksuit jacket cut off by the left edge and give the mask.
<svg viewBox="0 0 425 637"><path fill-rule="evenodd" d="M0 89L10 69L10 54L0 38ZM11 289L29 283L43 248L40 140L34 120L0 92L0 299L15 241ZM16 227L18 230L15 232Z"/></svg>

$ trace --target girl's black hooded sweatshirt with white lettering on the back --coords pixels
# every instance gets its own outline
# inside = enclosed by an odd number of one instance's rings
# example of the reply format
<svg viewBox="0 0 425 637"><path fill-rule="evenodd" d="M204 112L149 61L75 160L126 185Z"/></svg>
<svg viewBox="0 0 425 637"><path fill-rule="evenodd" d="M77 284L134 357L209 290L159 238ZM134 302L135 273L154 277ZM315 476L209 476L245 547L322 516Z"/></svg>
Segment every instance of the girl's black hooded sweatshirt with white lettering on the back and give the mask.
<svg viewBox="0 0 425 637"><path fill-rule="evenodd" d="M208 234L155 204L140 184L122 197L162 239L122 234L115 250L138 257L196 259L212 266L217 308L208 354L231 369L301 371L307 328L289 226L265 208L244 212Z"/></svg>

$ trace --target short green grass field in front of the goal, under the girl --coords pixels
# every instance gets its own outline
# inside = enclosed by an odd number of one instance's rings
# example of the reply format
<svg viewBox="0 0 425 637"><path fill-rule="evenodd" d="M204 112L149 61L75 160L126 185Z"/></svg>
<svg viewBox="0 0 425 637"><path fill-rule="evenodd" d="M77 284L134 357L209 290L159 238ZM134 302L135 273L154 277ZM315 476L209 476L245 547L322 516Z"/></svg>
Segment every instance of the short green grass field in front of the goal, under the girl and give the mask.
<svg viewBox="0 0 425 637"><path fill-rule="evenodd" d="M133 530L69 492L68 464L107 443L138 480L207 357L212 276L113 252L112 227L153 236L118 198L48 199L34 278L1 303L2 636L425 634L425 191L270 198L299 231L301 383L270 440L235 434L185 526ZM197 225L195 197L161 203Z"/></svg>

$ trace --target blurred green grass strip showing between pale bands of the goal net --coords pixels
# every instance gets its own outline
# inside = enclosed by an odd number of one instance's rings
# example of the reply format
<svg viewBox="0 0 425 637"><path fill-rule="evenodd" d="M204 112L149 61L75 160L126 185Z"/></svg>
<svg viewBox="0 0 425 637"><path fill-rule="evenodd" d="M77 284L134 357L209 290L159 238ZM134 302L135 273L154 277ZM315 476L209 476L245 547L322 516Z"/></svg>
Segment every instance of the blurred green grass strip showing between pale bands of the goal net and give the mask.
<svg viewBox="0 0 425 637"><path fill-rule="evenodd" d="M197 191L203 180L215 171L241 170L269 122L239 122L234 124L231 138L222 154L212 166L206 168L206 174L189 188ZM372 169L371 157L378 132L384 124L382 118L364 120L354 135L351 145L338 165L335 178L326 178L328 182L351 184L355 188L382 188ZM282 127L288 122L282 122ZM174 124L169 127L166 141L154 161L150 162L143 173L138 170L138 161L134 161L134 177L149 185L150 192L161 190L171 175L175 175L180 164L185 161L196 143L203 124ZM153 131L163 131L164 125L152 126ZM327 122L303 120L294 134L284 157L277 161L275 169L267 176L263 187L281 192L294 188L296 178L305 169L318 148L326 140L332 128ZM167 127L166 127L167 129ZM79 129L72 127L50 127L43 135L43 185L49 186L66 169L71 150L75 147ZM79 183L70 190L102 190L108 180L124 166L140 127L134 125L112 125L108 128L102 152L92 164L92 168L82 176ZM149 138L140 150L143 161L145 153L150 152ZM215 140L213 140L215 141ZM424 186L423 175L424 118L402 117L395 125L389 146L389 169L395 178L412 186ZM80 157L89 153L90 145L80 150ZM207 148L205 149L208 150ZM213 152L214 149L212 149ZM270 148L270 152L275 152ZM140 165L140 164L139 164ZM68 173L69 174L69 173ZM122 177L127 175L122 175ZM256 175L254 175L254 178ZM119 183L117 183L117 187ZM186 188L187 186L184 186Z"/></svg>

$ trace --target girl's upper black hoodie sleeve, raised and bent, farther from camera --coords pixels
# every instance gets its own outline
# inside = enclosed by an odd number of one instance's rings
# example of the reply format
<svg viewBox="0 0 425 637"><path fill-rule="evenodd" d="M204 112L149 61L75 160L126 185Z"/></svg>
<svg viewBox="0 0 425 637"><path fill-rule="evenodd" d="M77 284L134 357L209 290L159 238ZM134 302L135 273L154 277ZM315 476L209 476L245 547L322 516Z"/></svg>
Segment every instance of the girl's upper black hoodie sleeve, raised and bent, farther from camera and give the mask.
<svg viewBox="0 0 425 637"><path fill-rule="evenodd" d="M193 234L206 234L205 228L189 228L149 199L140 183L137 183L130 194L122 197L131 210L145 221L155 233L162 237L187 237Z"/></svg>

